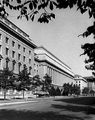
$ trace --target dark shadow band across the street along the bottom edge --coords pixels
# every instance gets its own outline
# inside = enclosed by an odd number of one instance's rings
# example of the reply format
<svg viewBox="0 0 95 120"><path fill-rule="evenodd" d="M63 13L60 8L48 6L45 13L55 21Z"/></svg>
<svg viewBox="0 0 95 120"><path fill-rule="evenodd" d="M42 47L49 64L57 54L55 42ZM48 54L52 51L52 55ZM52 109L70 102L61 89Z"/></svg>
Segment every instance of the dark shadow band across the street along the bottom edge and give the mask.
<svg viewBox="0 0 95 120"><path fill-rule="evenodd" d="M34 112L26 110L0 110L0 120L83 120L73 115L56 112Z"/></svg>

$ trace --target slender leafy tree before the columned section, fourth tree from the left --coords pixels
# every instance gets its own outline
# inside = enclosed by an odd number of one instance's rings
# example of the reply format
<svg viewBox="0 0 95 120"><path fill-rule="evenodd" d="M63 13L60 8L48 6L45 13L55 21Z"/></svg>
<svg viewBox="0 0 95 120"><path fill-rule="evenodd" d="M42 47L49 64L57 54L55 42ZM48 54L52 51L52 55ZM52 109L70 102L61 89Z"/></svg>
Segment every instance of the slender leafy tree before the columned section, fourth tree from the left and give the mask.
<svg viewBox="0 0 95 120"><path fill-rule="evenodd" d="M48 92L49 88L51 87L52 79L48 74L45 74L43 78L44 80L42 90Z"/></svg>

